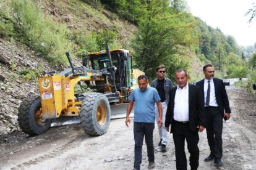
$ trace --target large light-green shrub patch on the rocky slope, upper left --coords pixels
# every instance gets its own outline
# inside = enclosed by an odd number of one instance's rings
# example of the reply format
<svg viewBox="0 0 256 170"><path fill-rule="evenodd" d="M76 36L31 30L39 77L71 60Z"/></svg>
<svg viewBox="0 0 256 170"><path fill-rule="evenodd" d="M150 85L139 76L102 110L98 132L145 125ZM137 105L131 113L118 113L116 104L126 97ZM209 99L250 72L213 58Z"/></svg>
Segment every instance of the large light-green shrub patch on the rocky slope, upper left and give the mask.
<svg viewBox="0 0 256 170"><path fill-rule="evenodd" d="M43 15L32 0L12 0L11 7L17 38L50 62L65 63L63 54L71 51L67 26Z"/></svg>

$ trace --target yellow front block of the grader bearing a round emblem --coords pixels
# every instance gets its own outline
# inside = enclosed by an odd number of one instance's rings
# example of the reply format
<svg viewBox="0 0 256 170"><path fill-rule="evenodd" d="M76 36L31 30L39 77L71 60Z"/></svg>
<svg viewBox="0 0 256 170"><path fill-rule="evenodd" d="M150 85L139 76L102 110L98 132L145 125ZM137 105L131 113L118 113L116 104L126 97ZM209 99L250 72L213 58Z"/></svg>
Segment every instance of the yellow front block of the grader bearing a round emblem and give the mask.
<svg viewBox="0 0 256 170"><path fill-rule="evenodd" d="M61 89L62 77L64 76L54 75L39 79L43 119L58 118L61 114L62 105L65 102L62 100L62 91L66 91L66 88Z"/></svg>

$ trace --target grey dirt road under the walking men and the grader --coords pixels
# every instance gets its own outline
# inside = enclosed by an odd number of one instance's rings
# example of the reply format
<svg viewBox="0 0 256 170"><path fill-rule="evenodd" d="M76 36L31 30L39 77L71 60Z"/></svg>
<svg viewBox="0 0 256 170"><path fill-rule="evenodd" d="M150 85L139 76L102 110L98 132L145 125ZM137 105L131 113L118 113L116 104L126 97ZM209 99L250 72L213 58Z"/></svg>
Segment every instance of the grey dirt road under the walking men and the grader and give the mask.
<svg viewBox="0 0 256 170"><path fill-rule="evenodd" d="M216 168L205 163L208 156L206 132L200 133L198 169L256 169L256 99L244 89L227 87L232 118L224 123L223 163ZM79 124L49 129L40 136L22 132L0 136L0 169L132 169L134 161L133 123L113 119L108 132L87 136ZM154 144L159 142L155 129ZM187 150L187 149L186 149ZM187 159L189 154L187 153ZM189 159L188 159L189 160ZM175 169L173 137L168 152L155 147L155 169ZM147 169L147 148L143 145L142 169Z"/></svg>

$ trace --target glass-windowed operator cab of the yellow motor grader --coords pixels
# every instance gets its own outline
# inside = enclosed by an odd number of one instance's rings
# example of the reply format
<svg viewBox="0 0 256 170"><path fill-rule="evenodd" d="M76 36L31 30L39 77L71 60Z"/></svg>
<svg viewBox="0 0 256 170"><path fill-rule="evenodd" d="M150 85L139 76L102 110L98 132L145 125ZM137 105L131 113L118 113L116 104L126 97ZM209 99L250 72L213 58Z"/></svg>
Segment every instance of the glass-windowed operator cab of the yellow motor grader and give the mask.
<svg viewBox="0 0 256 170"><path fill-rule="evenodd" d="M109 58L109 54L111 54L111 58ZM109 54L106 51L100 51L83 57L83 65L88 65L92 70L109 73L104 75L105 81L95 81L95 84L92 84L94 83L92 81L87 81L87 86L96 92L105 93L110 103L128 102L130 87L133 86L130 51L116 49L109 51ZM115 96L113 92L117 95Z"/></svg>

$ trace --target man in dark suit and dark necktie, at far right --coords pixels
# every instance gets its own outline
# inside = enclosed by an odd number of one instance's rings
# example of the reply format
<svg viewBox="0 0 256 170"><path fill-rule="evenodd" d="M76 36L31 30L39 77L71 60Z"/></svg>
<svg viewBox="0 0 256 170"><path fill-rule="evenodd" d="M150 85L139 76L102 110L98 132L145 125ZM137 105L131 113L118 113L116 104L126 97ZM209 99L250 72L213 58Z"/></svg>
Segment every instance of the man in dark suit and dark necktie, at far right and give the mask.
<svg viewBox="0 0 256 170"><path fill-rule="evenodd" d="M223 118L229 119L231 110L223 80L213 78L214 73L213 65L205 65L205 79L198 81L196 85L200 87L205 101L207 139L211 152L205 161L215 160L216 165L222 165Z"/></svg>

